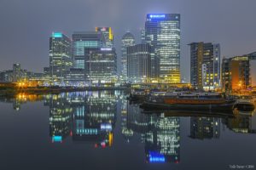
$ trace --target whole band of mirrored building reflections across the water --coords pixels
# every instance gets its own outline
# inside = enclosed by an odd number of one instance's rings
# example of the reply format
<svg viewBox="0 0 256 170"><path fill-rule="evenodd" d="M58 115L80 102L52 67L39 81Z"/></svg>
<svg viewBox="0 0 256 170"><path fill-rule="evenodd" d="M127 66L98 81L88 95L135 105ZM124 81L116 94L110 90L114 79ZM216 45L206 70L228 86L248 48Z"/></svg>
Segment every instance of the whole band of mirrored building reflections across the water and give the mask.
<svg viewBox="0 0 256 170"><path fill-rule="evenodd" d="M121 133L130 142L135 133L144 144L147 162L180 162L180 117L164 113L144 114L138 104L130 105L120 92L95 91L48 95L19 94L15 99L0 101L14 105L44 100L49 106L49 136L62 143L70 136L74 143L105 148L113 144L113 129L120 108ZM186 114L185 116L188 116ZM219 139L220 124L236 133L256 133L256 116L228 116L222 118L190 117L191 139Z"/></svg>

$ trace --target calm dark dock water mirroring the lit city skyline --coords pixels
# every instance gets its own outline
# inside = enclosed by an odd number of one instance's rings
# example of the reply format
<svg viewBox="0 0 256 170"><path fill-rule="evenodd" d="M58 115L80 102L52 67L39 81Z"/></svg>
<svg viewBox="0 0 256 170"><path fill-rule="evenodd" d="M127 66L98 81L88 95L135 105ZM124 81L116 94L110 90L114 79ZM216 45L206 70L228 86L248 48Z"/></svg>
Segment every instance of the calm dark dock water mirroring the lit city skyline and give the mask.
<svg viewBox="0 0 256 170"><path fill-rule="evenodd" d="M119 91L1 101L1 170L256 166L256 116L144 114Z"/></svg>

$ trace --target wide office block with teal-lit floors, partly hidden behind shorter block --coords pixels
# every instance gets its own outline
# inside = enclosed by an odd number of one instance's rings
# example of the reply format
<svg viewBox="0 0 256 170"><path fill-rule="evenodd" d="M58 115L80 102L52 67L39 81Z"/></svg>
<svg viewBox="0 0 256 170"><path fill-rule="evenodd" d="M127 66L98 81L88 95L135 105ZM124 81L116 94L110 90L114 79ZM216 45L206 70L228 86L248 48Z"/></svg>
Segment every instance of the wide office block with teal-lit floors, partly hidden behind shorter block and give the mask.
<svg viewBox="0 0 256 170"><path fill-rule="evenodd" d="M73 33L73 67L84 69L84 48L101 48L102 32L76 31Z"/></svg>

